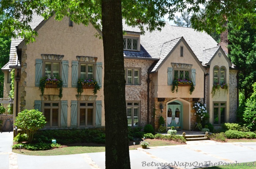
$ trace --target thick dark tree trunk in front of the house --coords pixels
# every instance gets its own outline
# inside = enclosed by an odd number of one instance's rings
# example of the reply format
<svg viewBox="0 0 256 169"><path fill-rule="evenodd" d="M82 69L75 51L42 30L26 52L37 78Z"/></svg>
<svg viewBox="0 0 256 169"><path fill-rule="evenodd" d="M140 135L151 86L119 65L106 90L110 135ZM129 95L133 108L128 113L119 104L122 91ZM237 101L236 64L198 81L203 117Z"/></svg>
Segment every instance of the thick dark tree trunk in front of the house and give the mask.
<svg viewBox="0 0 256 169"><path fill-rule="evenodd" d="M121 0L102 0L106 169L130 169Z"/></svg>

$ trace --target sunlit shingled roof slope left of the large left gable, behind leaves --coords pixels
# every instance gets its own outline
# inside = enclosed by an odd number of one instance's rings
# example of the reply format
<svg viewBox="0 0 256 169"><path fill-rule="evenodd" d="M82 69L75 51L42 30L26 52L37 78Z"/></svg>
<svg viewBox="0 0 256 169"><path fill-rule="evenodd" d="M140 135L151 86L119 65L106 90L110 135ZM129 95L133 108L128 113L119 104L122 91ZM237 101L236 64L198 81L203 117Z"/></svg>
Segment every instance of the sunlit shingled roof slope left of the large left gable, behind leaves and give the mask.
<svg viewBox="0 0 256 169"><path fill-rule="evenodd" d="M42 16L36 15L33 13L33 19L32 22L29 23L32 30L34 30L43 20L44 18ZM11 42L11 49L10 49L10 60L9 60L9 66L20 66L20 60L18 60L18 64L16 65L16 47L18 46L24 39L23 38L12 38Z"/></svg>

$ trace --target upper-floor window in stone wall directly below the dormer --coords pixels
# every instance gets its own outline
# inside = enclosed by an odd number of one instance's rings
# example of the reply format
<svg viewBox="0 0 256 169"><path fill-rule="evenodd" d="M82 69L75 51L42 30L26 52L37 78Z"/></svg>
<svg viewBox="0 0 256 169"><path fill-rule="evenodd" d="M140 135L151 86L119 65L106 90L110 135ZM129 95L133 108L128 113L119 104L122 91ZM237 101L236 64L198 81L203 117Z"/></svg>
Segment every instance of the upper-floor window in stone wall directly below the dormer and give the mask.
<svg viewBox="0 0 256 169"><path fill-rule="evenodd" d="M130 85L140 85L140 68L124 68L124 78Z"/></svg>

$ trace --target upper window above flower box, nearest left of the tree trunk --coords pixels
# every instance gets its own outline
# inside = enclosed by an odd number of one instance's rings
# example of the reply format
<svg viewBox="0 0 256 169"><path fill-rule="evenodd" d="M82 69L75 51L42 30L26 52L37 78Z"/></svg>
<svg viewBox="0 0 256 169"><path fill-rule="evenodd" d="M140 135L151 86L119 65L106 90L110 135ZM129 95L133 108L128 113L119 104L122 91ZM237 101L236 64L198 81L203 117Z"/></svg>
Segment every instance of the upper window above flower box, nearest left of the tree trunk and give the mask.
<svg viewBox="0 0 256 169"><path fill-rule="evenodd" d="M95 64L92 63L79 63L79 78L80 79L94 79Z"/></svg>

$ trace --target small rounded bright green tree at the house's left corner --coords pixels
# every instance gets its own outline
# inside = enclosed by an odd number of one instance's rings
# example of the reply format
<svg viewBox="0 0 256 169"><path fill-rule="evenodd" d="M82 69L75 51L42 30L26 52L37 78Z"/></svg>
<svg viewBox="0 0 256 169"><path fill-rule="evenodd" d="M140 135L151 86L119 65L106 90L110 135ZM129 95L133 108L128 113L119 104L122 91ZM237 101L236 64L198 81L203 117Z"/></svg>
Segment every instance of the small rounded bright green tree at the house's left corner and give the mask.
<svg viewBox="0 0 256 169"><path fill-rule="evenodd" d="M34 133L44 127L46 124L45 117L38 110L23 110L16 117L16 122L14 123L19 129L22 129L31 143L33 140Z"/></svg>

